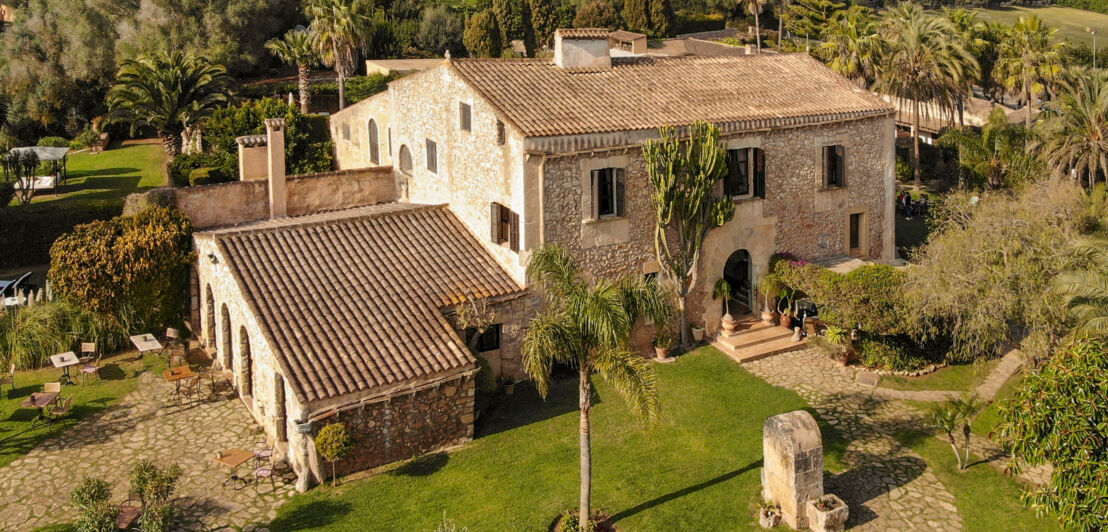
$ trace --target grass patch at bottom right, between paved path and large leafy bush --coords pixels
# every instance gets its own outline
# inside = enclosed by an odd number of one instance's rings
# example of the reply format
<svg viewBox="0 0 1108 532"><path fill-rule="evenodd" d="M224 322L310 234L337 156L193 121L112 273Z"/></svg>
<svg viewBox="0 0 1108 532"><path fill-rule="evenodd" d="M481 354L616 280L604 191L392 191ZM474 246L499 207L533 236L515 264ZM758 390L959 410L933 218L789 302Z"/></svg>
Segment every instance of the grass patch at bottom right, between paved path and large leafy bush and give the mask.
<svg viewBox="0 0 1108 532"><path fill-rule="evenodd" d="M1040 518L1019 502L1022 485L987 463L974 463L960 472L951 446L922 432L897 434L920 453L935 477L954 495L966 531L1054 531L1060 530L1049 518Z"/></svg>

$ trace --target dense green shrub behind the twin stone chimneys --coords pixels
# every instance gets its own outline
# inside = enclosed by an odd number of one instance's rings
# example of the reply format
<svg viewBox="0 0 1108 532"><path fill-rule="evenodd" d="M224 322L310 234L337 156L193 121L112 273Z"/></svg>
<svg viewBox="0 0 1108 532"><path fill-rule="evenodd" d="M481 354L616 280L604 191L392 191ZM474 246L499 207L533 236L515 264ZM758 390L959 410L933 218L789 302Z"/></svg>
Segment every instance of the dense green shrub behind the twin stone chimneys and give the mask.
<svg viewBox="0 0 1108 532"><path fill-rule="evenodd" d="M320 167L330 170L331 152L312 146L308 116L300 113L298 105L274 99L247 101L212 113L204 139L214 154L224 157L222 164L212 166L222 167L227 175L237 175L238 144L235 139L265 134L265 119L278 117L285 119L285 160L289 174L318 172Z"/></svg>

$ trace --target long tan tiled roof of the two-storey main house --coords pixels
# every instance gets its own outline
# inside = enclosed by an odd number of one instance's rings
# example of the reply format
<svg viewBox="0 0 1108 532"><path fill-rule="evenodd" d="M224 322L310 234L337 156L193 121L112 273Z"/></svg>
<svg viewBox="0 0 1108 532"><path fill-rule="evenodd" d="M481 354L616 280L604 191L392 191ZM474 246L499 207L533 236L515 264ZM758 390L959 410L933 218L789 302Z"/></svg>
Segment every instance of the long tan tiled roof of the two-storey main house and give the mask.
<svg viewBox="0 0 1108 532"><path fill-rule="evenodd" d="M697 120L782 127L892 112L804 53L613 58L602 72L567 71L548 59L456 59L452 68L525 136Z"/></svg>

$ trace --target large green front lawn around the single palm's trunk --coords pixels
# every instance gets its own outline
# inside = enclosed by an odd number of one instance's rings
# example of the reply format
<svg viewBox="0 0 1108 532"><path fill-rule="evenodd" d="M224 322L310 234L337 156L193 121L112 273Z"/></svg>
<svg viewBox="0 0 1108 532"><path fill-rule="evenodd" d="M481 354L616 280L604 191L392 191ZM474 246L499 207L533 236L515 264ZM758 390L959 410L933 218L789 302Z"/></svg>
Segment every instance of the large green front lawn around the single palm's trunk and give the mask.
<svg viewBox="0 0 1108 532"><path fill-rule="evenodd" d="M762 423L804 401L714 348L655 367L663 421L648 431L596 379L594 508L622 530L756 530ZM460 450L296 495L270 530L433 530L444 512L470 532L546 530L576 505L576 389L561 380L543 402L517 386ZM841 469L842 441L823 434L829 469Z"/></svg>

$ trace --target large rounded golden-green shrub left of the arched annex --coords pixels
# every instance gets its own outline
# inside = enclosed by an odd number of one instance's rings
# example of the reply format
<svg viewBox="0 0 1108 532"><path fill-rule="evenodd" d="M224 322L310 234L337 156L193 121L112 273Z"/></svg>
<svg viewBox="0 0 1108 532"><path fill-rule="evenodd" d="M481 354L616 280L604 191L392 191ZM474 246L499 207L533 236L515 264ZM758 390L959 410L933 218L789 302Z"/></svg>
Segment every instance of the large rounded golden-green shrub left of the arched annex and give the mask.
<svg viewBox="0 0 1108 532"><path fill-rule="evenodd" d="M185 310L192 224L155 207L74 228L50 249L54 294L119 318L125 310L148 328L179 323Z"/></svg>

